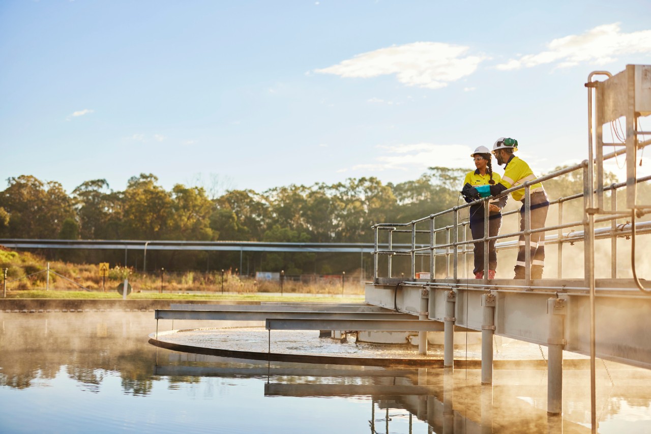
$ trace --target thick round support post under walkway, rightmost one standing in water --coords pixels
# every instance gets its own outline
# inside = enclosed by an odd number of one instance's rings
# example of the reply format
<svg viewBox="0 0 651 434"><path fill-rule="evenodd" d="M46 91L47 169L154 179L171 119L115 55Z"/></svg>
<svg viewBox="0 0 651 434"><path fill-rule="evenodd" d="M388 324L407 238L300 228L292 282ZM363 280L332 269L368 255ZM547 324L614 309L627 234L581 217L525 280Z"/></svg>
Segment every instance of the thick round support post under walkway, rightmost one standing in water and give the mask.
<svg viewBox="0 0 651 434"><path fill-rule="evenodd" d="M563 389L564 298L547 298L547 414L561 414Z"/></svg>

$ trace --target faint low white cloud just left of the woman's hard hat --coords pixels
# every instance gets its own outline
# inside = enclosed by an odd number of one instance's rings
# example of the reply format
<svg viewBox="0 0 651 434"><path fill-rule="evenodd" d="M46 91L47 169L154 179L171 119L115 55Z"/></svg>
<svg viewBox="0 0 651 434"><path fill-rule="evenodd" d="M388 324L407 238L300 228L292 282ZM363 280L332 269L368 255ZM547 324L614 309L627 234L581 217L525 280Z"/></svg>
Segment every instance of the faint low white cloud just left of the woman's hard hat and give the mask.
<svg viewBox="0 0 651 434"><path fill-rule="evenodd" d="M470 147L464 145L437 145L412 143L378 145L380 154L369 164L353 166L355 171L413 171L415 177L428 167L471 167Z"/></svg>

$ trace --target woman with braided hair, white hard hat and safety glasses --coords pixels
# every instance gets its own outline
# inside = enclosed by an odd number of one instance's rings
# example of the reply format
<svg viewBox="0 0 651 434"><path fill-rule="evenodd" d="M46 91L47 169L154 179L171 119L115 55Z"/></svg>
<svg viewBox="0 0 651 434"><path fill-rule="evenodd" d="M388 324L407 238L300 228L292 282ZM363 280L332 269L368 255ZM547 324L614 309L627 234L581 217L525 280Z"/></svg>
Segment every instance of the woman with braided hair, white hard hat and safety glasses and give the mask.
<svg viewBox="0 0 651 434"><path fill-rule="evenodd" d="M491 152L485 146L480 146L475 149L475 152L470 154L475 162L477 169L469 171L465 175L464 188L462 194L466 202L471 203L479 197L488 197L490 195L489 187L501 181L498 173L493 173L493 165L491 161ZM480 191L482 193L480 193ZM484 201L470 206L470 231L473 235L473 240L484 238L484 206L488 205L488 234L490 237L495 237L499 234L499 228L502 225L501 210L506 205L506 196L490 203ZM497 252L495 252L495 240L488 242L488 252L484 252L484 242L475 242L475 268L473 273L475 279L484 278L484 254L488 254L488 273L486 277L489 279L495 278L495 269L497 268Z"/></svg>

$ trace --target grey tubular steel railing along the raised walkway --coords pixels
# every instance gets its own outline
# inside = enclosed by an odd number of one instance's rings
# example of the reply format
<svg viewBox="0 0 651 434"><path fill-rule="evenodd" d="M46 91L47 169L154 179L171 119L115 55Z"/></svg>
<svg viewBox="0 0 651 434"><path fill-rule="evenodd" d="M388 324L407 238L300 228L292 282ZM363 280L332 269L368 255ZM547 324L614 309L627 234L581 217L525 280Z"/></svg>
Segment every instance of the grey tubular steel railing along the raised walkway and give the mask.
<svg viewBox="0 0 651 434"><path fill-rule="evenodd" d="M610 158L615 158L619 154L623 154L625 152L624 149L620 149L618 151L612 152L611 154L607 154L603 156L603 160L608 160ZM588 183L588 160L584 160L583 162L576 164L575 166L570 166L566 167L564 169L554 171L552 173L549 173L547 175L544 175L542 177L538 177L534 179L533 181L527 181L524 182L523 184L520 184L518 186L514 186L512 188L509 188L508 190L505 190L503 192L503 195L508 195L511 192L514 192L516 190L520 189L525 189L525 196L524 196L524 230L523 231L516 231L516 232L511 232L511 233L504 233L504 234L499 234L495 235L493 237L488 236L489 231L488 231L488 207L484 207L484 236L481 239L471 239L471 237L468 236L468 229L469 229L469 222L464 221L459 218L460 211L470 207L471 205L477 205L479 203L483 203L489 200L494 200L495 197L483 197L481 199L477 199L477 201L474 201L472 203L464 203L463 205L458 205L456 207L452 207L451 209L443 210L441 212L436 212L435 214L430 214L429 216L425 216L422 218L419 218L417 220L412 220L411 222L407 223L380 223L380 224L375 224L372 226L372 229L374 230L374 251L372 252L374 256L374 282L378 282L378 278L380 277L387 277L387 278L392 278L393 273L392 273L392 266L393 266L393 261L392 258L393 256L409 256L410 260L410 272L409 272L409 279L405 280L415 280L416 279L416 258L417 257L422 257L423 256L428 256L429 257L429 272L430 272L430 282L434 282L436 278L436 273L437 273L437 257L445 257L445 276L452 277L455 280L459 278L459 264L458 264L458 258L459 255L462 254L464 258L464 267L467 267L467 254L471 252L471 249L469 246L471 244L474 244L475 242L484 242L484 270L488 270L488 242L491 240L496 240L496 249L497 250L504 250L508 248L518 248L518 241L516 240L515 242L510 241L510 242L497 242L497 240L505 240L508 238L518 238L520 235L524 236L525 239L525 280L527 280L527 284L531 284L531 248L530 248L530 243L531 243L531 234L533 233L547 233L551 231L556 231L555 234L553 235L546 235L544 237L544 242L545 244L557 244L557 254L558 254L558 263L557 263L557 278L562 278L562 248L563 244L566 242L574 243L577 241L583 241L585 240L585 234L588 233L588 224L587 224L587 214L585 213L585 209L588 207L587 203L587 196L589 195L589 183ZM530 187L533 184L536 184L538 182L544 182L549 179L553 179L556 177L560 177L562 175L566 175L568 173L572 173L574 171L581 170L583 173L583 192L582 193L577 193L574 195L570 195L567 197L559 197L558 199L553 199L549 201L549 205L558 205L558 224L556 225L549 225L542 227L540 229L531 229L531 194L530 194ZM651 176L647 177L641 177L639 179L636 179L636 182L646 182L650 181ZM610 186L606 186L603 188L604 191L611 191L611 212L610 214L607 214L605 216L601 216L600 218L596 218L594 222L611 222L610 227L602 227L600 229L595 229L594 234L595 237L599 239L603 238L611 238L611 278L616 278L617 277L617 246L616 246L616 237L618 236L623 236L623 235L628 235L630 233L631 225L630 222L626 222L626 224L618 224L617 220L621 218L626 218L631 216L630 210L626 211L618 211L617 209L617 189L626 187L626 182L620 182L620 183L613 183ZM593 189L594 192L594 189ZM583 209L584 209L584 218L581 221L574 221L574 222L564 222L564 203L567 201L571 201L574 199L579 199L583 197L584 199L584 204L583 204ZM510 210L508 212L504 212L502 215L503 216L508 216L511 214L519 214L520 210ZM436 226L436 220L437 218L443 218L450 216L452 217L452 224L449 225L443 225L441 227ZM425 222L429 222L429 228L428 229L417 229L417 225L422 225ZM583 231L570 231L566 234L562 232L562 229L568 229L571 227L577 227L577 226L583 226ZM651 232L651 222L640 222L636 224L635 226L636 232L637 233L649 233ZM378 247L380 246L380 231L386 231L388 233L388 242L387 242L387 250L380 250ZM462 232L463 236L460 239L460 231ZM409 233L411 234L411 243L409 244L409 248L401 248L401 249L395 249L393 248L394 246L394 234L398 233ZM416 242L417 240L417 234L424 234L428 233L429 234L429 242L428 243L418 243ZM438 243L436 242L437 235L440 237L441 235L439 234L445 234L445 242L443 243ZM404 246L404 244L401 244L400 247ZM387 274L386 276L380 276L380 271L378 270L378 259L380 255L385 255L387 256ZM452 274L450 274L450 262L451 262L451 267L452 267ZM587 261L586 261L587 263ZM587 276L588 273L585 274ZM484 282L483 284L485 285L488 280L488 273L484 274Z"/></svg>

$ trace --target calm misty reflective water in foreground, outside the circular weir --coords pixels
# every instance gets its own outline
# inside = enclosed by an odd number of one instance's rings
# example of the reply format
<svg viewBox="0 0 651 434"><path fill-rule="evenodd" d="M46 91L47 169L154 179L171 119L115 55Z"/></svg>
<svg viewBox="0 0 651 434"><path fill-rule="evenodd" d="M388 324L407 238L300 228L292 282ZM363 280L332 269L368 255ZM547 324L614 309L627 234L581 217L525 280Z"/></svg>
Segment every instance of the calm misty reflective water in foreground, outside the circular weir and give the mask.
<svg viewBox="0 0 651 434"><path fill-rule="evenodd" d="M157 349L148 313L0 313L0 431L587 433L589 372L260 362ZM651 373L608 364L599 431L651 432ZM612 379L612 381L610 380ZM38 417L35 417L35 416Z"/></svg>

